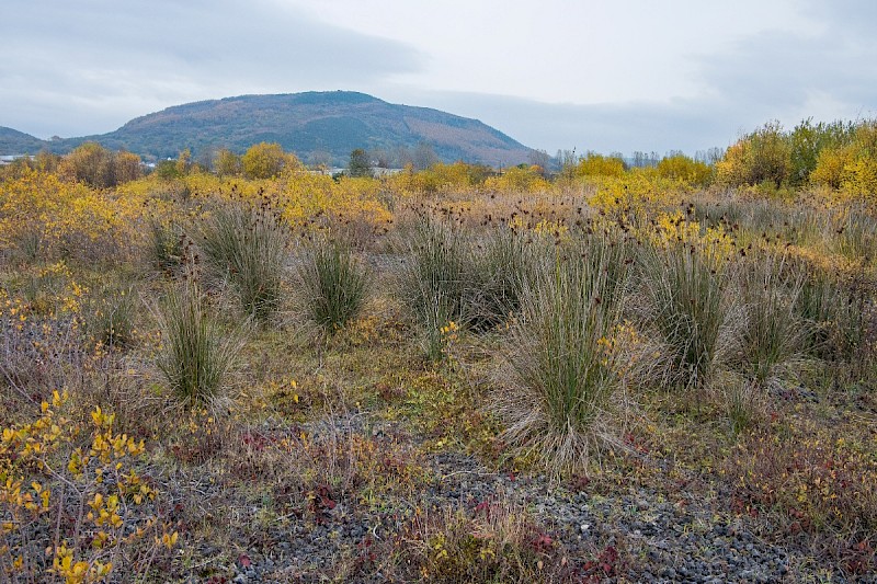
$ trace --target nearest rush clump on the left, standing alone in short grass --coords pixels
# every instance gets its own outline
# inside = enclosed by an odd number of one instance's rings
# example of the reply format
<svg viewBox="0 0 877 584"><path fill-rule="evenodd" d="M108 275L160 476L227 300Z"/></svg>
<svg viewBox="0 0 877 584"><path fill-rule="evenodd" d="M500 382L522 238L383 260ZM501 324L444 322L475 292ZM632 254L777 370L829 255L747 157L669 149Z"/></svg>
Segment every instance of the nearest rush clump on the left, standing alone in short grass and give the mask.
<svg viewBox="0 0 877 584"><path fill-rule="evenodd" d="M205 310L198 285L186 279L171 288L159 313L163 351L158 367L170 388L186 404L208 402L219 394L237 350Z"/></svg>

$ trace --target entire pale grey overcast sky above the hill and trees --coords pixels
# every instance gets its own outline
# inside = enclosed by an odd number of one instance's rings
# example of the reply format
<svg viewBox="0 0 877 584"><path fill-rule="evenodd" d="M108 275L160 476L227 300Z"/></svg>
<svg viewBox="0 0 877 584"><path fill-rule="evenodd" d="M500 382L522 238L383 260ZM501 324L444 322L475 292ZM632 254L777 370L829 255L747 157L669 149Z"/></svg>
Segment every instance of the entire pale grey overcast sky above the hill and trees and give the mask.
<svg viewBox="0 0 877 584"><path fill-rule="evenodd" d="M688 153L877 115L877 0L3 0L0 126L111 131L248 93L363 91L526 146Z"/></svg>

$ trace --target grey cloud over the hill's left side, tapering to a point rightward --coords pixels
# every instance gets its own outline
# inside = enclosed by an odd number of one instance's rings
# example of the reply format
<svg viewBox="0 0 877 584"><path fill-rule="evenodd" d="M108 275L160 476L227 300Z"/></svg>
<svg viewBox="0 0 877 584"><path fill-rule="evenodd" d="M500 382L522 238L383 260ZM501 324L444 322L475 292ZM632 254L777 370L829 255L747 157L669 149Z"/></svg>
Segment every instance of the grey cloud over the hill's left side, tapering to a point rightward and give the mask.
<svg viewBox="0 0 877 584"><path fill-rule="evenodd" d="M418 70L410 46L270 0L7 0L0 125L41 136L107 131L198 99L349 89Z"/></svg>

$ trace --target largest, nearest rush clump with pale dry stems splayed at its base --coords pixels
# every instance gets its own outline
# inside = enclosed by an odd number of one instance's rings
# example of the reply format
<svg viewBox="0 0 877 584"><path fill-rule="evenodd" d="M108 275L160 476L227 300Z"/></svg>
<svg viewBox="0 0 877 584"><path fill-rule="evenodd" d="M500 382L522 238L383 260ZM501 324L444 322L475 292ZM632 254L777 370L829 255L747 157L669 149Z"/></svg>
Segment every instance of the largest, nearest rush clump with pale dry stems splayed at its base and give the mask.
<svg viewBox="0 0 877 584"><path fill-rule="evenodd" d="M497 404L505 438L556 473L586 472L589 460L615 444L624 248L594 239L583 257L558 256L554 268L544 266L525 288L505 350Z"/></svg>

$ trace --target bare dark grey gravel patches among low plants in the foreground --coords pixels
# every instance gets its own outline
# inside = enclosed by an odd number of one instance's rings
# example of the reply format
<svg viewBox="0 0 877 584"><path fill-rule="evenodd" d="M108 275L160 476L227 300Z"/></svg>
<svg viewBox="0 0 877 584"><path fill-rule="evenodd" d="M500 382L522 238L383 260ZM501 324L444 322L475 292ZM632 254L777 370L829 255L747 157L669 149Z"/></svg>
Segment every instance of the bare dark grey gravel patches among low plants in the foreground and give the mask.
<svg viewBox="0 0 877 584"><path fill-rule="evenodd" d="M452 508L499 496L524 503L570 558L593 558L594 550L607 546L624 550L617 576L606 582L818 581L802 566L801 557L764 541L747 525L747 518L722 509L719 496L687 499L680 504L645 488L622 489L617 494L574 492L553 486L542 477L491 473L475 459L455 454L434 455L431 463L442 480L428 488L421 501ZM369 535L391 537L400 525L399 516L386 512L354 516L340 503L326 525L306 527L305 522L289 520L270 528L261 547L247 550L230 566L230 581L324 581L342 550L350 554ZM377 571L350 581L387 579ZM834 576L832 582L850 581ZM855 582L874 583L877 577L868 575Z"/></svg>

